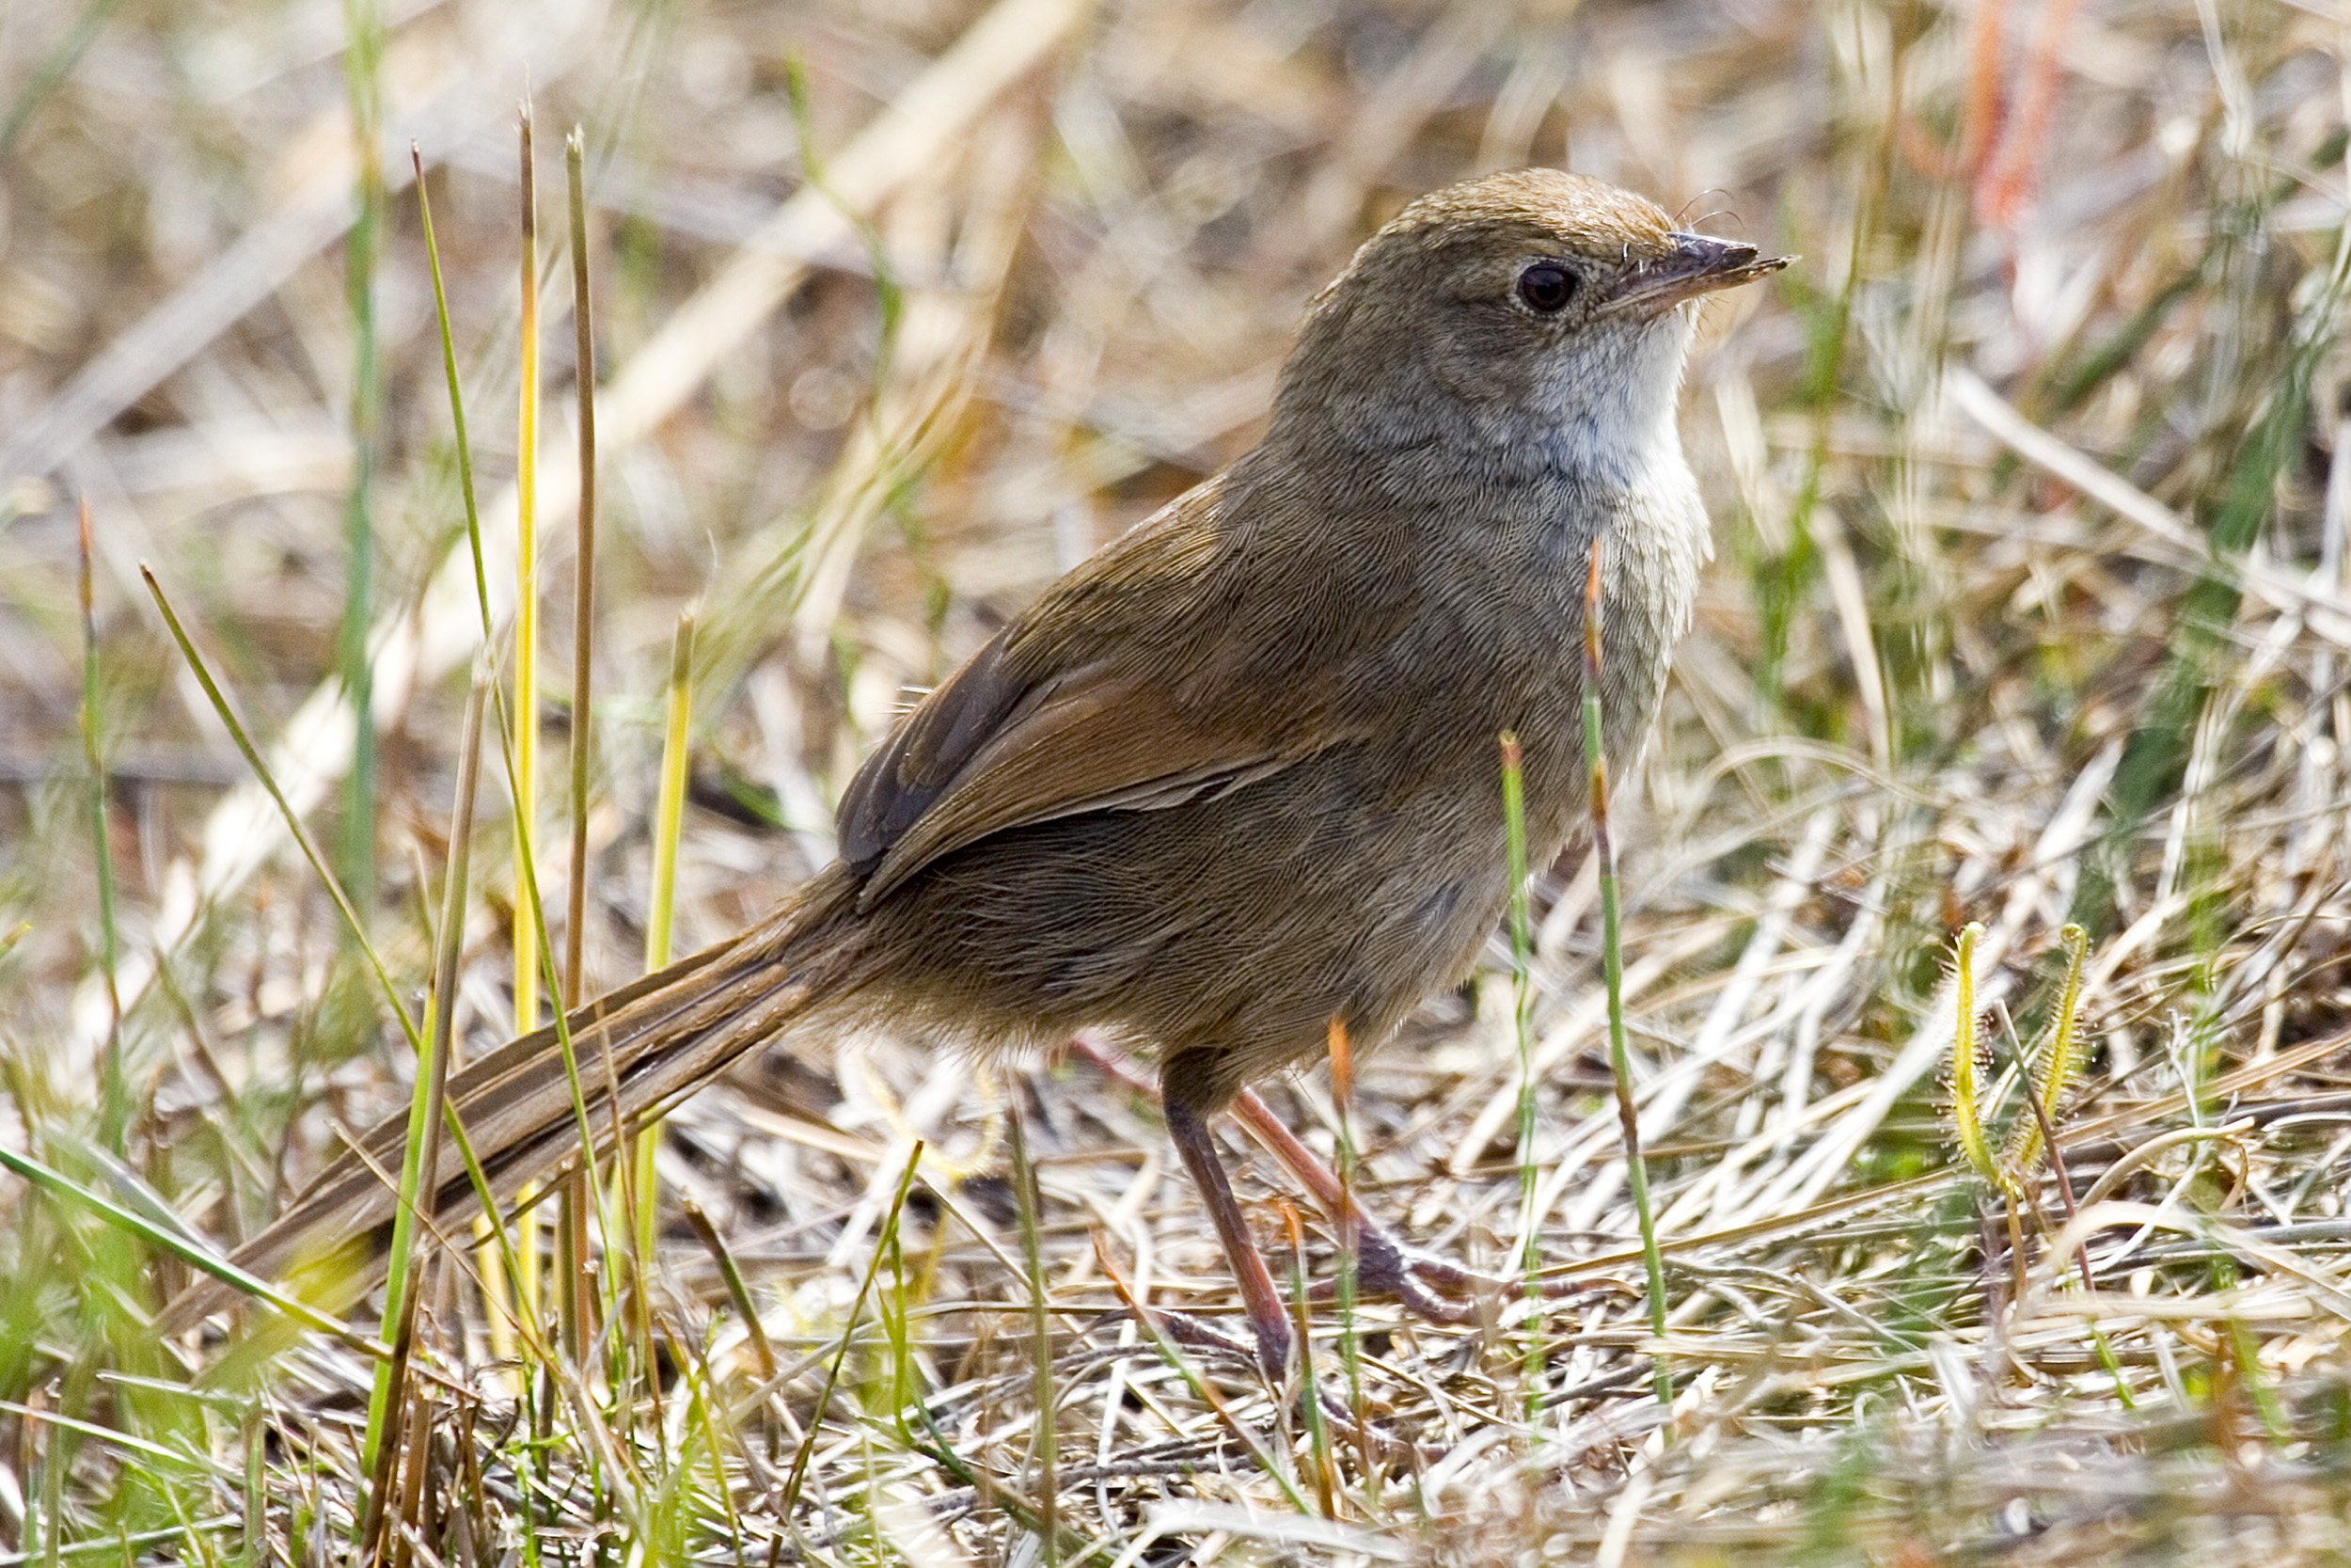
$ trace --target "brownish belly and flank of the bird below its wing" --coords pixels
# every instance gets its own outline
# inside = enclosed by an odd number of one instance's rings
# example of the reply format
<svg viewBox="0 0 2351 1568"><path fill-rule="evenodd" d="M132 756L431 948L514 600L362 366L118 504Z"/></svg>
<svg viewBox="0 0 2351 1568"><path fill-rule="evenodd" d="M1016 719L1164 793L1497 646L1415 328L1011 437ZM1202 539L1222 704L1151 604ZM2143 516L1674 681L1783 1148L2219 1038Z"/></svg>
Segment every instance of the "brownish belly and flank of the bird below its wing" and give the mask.
<svg viewBox="0 0 2351 1568"><path fill-rule="evenodd" d="M1098 1027L1211 1053L1234 1084L1319 1053L1333 1020L1375 1044L1467 971L1507 900L1495 776L1375 752L943 856L868 912L905 924L868 933L893 964L865 1011L983 1048Z"/></svg>

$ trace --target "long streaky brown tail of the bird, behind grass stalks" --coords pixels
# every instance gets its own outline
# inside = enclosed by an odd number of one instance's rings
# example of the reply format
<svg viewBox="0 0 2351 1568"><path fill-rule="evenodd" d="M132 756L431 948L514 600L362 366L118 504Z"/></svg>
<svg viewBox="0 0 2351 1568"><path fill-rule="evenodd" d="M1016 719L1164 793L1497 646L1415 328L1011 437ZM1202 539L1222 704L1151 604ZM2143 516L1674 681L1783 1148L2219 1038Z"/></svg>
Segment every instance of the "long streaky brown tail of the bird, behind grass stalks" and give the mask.
<svg viewBox="0 0 2351 1568"><path fill-rule="evenodd" d="M743 936L578 1006L567 1020L578 1100L555 1025L454 1072L449 1110L465 1128L491 1201L503 1208L524 1185L578 1164L583 1110L597 1157L604 1157L618 1135L644 1126L823 999L835 976L813 973L809 947L820 950L820 943L797 938L823 924L820 910L832 900L820 889L809 891L818 896L797 898ZM334 1295L348 1300L374 1284L390 1251L393 1182L407 1124L402 1112L369 1128L230 1262L252 1276L280 1279L294 1265L350 1248L360 1255L339 1258L350 1267L334 1269ZM440 1145L440 1168L423 1190L433 1192L435 1225L449 1234L482 1211L482 1194L456 1140ZM364 1251L353 1248L362 1239ZM205 1279L165 1309L158 1328L186 1331L233 1298L233 1286Z"/></svg>

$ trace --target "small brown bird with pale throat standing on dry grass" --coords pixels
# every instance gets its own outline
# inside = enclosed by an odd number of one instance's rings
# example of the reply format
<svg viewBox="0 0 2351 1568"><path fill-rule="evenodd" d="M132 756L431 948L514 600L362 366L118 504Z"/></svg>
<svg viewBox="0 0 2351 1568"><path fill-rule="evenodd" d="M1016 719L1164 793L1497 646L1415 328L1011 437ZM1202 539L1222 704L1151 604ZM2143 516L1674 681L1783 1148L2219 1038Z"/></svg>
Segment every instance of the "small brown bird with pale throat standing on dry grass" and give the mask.
<svg viewBox="0 0 2351 1568"><path fill-rule="evenodd" d="M1091 1030L1157 1060L1279 1371L1291 1331L1208 1119L1333 1023L1378 1044L1467 973L1512 891L1500 731L1533 863L1578 832L1594 541L1601 738L1615 766L1639 752L1709 555L1674 428L1693 301L1784 263L1549 169L1406 207L1314 296L1265 442L931 691L849 785L835 865L571 1016L588 1128L778 1037L999 1056ZM498 1201L581 1159L552 1030L454 1074L449 1105ZM360 1232L381 1253L402 1138L402 1117L367 1133L237 1262L268 1276ZM428 1190L444 1227L480 1201L447 1147ZM1364 1279L1411 1267L1382 1239Z"/></svg>

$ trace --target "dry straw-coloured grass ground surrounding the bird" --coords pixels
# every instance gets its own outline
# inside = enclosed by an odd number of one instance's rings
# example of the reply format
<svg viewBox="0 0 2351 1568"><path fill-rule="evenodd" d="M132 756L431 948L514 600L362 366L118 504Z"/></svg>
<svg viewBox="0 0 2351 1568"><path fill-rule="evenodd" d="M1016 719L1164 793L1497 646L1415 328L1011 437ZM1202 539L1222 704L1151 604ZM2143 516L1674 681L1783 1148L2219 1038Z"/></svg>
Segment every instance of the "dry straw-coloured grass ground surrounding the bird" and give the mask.
<svg viewBox="0 0 2351 1568"><path fill-rule="evenodd" d="M444 1272L402 1549L2342 1561L2346 28L2337 0L16 0L0 1145L230 1244L404 1093L355 945L139 562L421 1011L480 611L411 141L503 623L534 103L560 752L557 143L585 136L590 990L642 961L682 609L679 952L830 856L832 792L907 686L1248 447L1298 310L1378 221L1566 165L1803 254L1714 306L1690 367L1719 557L1617 830L1667 1338L1622 1291L1462 1331L1368 1305L1342 1338L1392 1450L1293 1429L1232 1368L1199 1373L1220 1413L1117 1314L1093 1251L1164 1302L1223 1300L1147 1105L1084 1067L976 1091L893 1041L771 1056L661 1147L658 1389L611 1347L564 1382ZM560 926L552 759L541 792ZM503 799L494 769L470 1048L513 1023ZM1629 1279L1589 872L1552 867L1535 917L1535 1147L1498 950L1364 1065L1364 1182L1413 1237L1502 1260L1531 1159L1545 1255ZM1951 1168L1944 971L1970 919L1980 999L2027 1039L2059 926L2092 938L2059 1150L2074 1197L2123 1208L2088 1227L2088 1293L2052 1246L2055 1175L2010 1225ZM1004 1098L1044 1204L1053 1422ZM1331 1145L1326 1074L1274 1098ZM893 1208L915 1133L931 1150ZM1267 1234L1279 1192L1244 1180ZM726 1237L776 1387L682 1199ZM14 1180L0 1204L0 1540L336 1556L364 1363L284 1333L160 1342L181 1265Z"/></svg>

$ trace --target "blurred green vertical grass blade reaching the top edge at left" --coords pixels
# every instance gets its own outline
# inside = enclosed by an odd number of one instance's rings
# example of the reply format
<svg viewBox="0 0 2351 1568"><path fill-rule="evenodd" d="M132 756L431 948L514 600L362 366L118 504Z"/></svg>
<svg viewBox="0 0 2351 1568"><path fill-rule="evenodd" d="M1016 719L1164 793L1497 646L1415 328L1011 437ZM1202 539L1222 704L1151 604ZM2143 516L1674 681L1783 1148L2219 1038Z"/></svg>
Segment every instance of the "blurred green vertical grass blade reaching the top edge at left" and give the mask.
<svg viewBox="0 0 2351 1568"><path fill-rule="evenodd" d="M376 468L383 461L383 353L376 331L376 261L383 247L383 7L343 0L343 82L357 160L353 221L343 244L350 310L350 491L343 498L343 630L336 663L350 698L350 769L343 773L343 835L336 856L350 900L376 903L376 675L367 628L376 609Z"/></svg>

